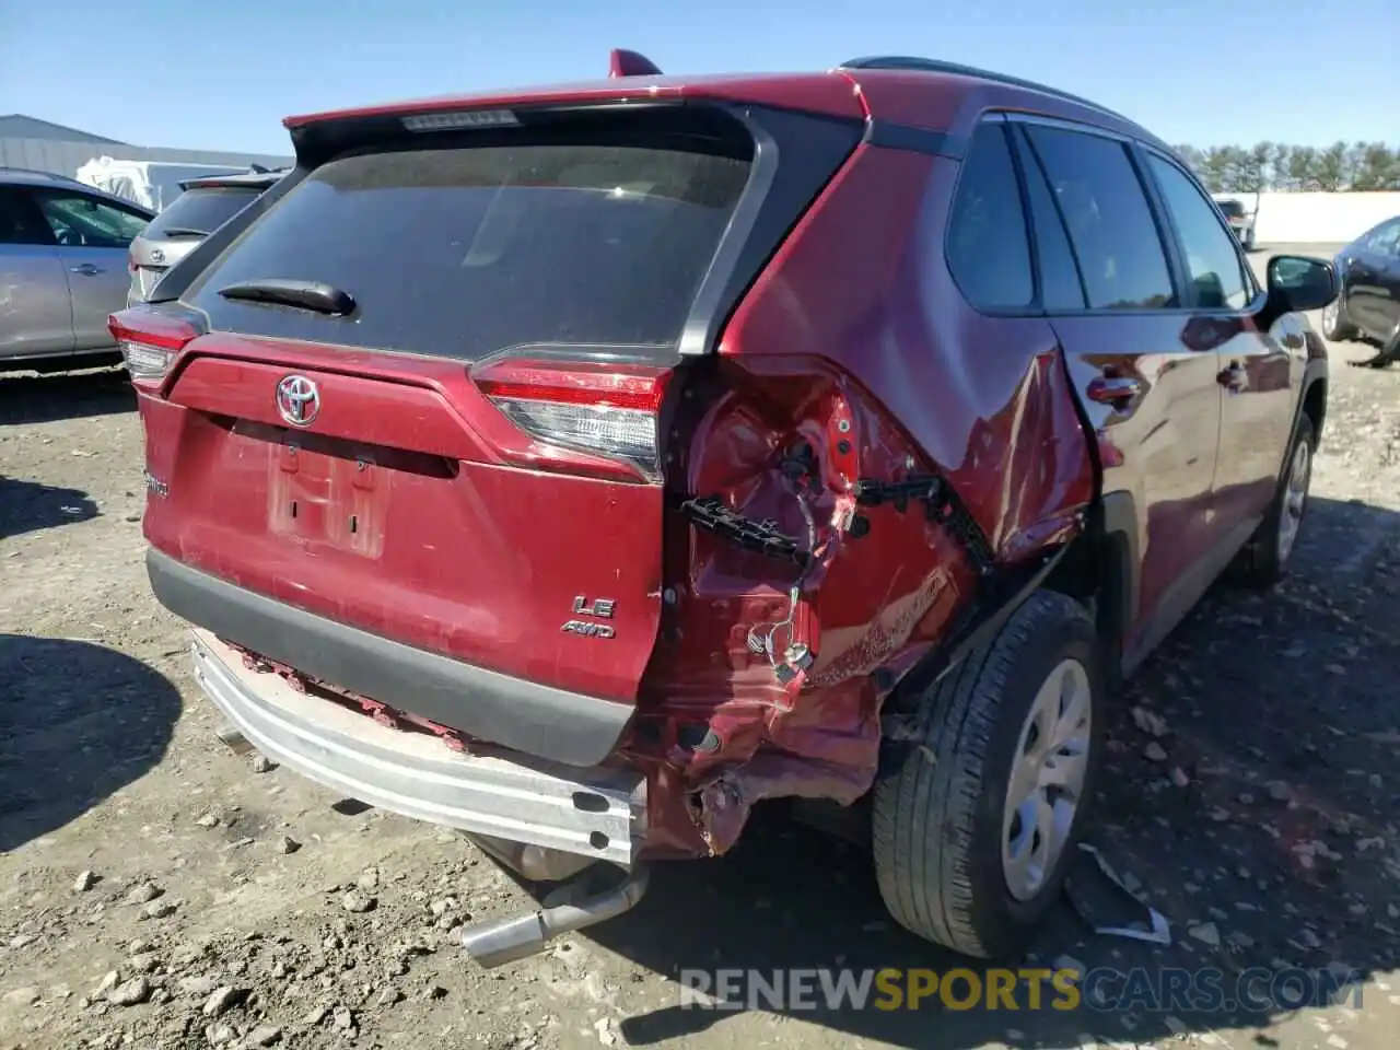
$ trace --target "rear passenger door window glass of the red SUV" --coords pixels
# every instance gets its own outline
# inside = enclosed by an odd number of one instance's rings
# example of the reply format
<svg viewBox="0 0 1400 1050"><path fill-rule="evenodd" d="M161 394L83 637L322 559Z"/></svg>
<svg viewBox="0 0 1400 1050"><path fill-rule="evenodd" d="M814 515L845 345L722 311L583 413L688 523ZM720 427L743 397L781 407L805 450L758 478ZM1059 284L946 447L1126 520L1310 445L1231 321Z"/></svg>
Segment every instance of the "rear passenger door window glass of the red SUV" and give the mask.
<svg viewBox="0 0 1400 1050"><path fill-rule="evenodd" d="M1089 307L1177 305L1156 223L1123 144L1054 127L1026 134L1074 242Z"/></svg>

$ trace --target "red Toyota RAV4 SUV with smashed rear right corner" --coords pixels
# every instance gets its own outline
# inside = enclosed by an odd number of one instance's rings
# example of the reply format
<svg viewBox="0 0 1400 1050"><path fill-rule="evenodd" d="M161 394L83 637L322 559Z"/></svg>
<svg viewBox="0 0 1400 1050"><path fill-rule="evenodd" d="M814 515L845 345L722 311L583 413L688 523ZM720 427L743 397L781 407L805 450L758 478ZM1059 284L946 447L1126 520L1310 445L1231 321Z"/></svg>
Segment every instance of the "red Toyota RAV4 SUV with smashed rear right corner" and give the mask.
<svg viewBox="0 0 1400 1050"><path fill-rule="evenodd" d="M1260 287L1159 139L1012 77L613 71L290 118L112 318L154 592L234 739L529 878L624 869L470 928L487 966L771 798L1008 955L1116 685L1287 566L1333 263Z"/></svg>

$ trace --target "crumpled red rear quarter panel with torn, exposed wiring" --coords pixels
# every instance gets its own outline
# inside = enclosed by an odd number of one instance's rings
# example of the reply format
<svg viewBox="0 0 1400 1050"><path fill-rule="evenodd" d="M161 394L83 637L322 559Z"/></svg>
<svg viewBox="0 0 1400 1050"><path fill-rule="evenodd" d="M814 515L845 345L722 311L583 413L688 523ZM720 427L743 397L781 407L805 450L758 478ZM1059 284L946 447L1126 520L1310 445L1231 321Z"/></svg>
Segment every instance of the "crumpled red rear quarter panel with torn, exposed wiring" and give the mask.
<svg viewBox="0 0 1400 1050"><path fill-rule="evenodd" d="M1079 528L1093 475L1054 332L973 312L944 263L956 169L861 147L725 330L682 442L683 487L802 549L811 532L823 556L804 575L672 515L671 598L641 704L665 755L654 853L722 853L762 798L860 798L885 697L979 599L980 574L944 524L918 503L857 511L857 479L941 475L993 574ZM811 525L783 470L802 447ZM861 538L853 511L869 525ZM749 638L790 609L774 650L802 641L816 659L784 687Z"/></svg>

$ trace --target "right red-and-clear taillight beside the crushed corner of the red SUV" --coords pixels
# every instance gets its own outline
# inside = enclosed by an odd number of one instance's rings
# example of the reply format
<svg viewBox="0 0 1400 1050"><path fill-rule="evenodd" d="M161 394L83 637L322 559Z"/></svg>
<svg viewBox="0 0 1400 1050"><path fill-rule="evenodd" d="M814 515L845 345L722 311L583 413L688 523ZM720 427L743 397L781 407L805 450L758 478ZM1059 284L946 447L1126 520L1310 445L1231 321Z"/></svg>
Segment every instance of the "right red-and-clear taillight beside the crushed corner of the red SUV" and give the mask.
<svg viewBox="0 0 1400 1050"><path fill-rule="evenodd" d="M659 412L668 368L612 363L505 360L476 368L472 379L531 437L624 463L657 480Z"/></svg>

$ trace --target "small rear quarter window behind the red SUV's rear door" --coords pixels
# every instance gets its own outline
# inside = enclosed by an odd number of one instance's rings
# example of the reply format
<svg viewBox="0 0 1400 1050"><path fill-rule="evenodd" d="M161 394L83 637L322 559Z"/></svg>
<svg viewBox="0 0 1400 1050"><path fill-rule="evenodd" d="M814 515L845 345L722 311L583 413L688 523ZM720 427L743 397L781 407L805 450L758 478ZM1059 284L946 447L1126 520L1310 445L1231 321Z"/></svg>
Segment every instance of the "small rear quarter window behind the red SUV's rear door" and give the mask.
<svg viewBox="0 0 1400 1050"><path fill-rule="evenodd" d="M973 134L948 220L948 269L979 309L1014 309L1035 300L1021 186L1002 123Z"/></svg>

